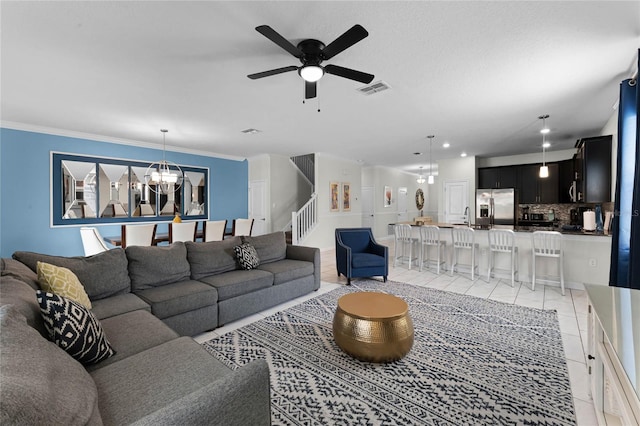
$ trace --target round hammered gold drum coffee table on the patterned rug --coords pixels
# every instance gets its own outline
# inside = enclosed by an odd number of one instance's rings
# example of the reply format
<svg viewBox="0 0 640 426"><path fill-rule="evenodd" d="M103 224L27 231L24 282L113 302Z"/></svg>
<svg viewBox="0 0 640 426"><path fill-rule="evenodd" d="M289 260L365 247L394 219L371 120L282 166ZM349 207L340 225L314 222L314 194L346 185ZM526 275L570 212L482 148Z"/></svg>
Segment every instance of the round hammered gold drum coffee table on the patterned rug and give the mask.
<svg viewBox="0 0 640 426"><path fill-rule="evenodd" d="M338 299L333 317L338 346L361 361L396 361L413 346L407 302L379 292L349 293Z"/></svg>

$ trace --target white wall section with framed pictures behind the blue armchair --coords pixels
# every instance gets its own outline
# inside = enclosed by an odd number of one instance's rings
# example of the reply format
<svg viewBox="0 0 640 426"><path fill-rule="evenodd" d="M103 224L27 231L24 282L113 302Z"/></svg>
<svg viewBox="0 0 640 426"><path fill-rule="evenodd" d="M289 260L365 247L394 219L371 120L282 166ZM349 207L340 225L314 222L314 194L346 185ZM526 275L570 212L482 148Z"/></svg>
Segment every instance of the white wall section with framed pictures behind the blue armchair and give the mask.
<svg viewBox="0 0 640 426"><path fill-rule="evenodd" d="M362 226L362 167L355 161L328 154L316 154L316 193L318 194L318 227L304 240L305 246L328 249L335 247L335 229ZM351 184L351 211L330 211L330 182ZM342 207L342 206L341 206Z"/></svg>

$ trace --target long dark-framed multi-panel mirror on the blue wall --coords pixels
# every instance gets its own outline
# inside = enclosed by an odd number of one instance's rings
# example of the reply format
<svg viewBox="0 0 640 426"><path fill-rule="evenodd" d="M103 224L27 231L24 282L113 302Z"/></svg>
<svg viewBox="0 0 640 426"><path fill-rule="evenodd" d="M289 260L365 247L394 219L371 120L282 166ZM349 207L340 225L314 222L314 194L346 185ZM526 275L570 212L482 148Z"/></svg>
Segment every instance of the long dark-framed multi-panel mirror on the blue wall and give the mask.
<svg viewBox="0 0 640 426"><path fill-rule="evenodd" d="M52 226L208 217L208 168L180 166L183 184L157 194L145 183L149 164L52 152Z"/></svg>

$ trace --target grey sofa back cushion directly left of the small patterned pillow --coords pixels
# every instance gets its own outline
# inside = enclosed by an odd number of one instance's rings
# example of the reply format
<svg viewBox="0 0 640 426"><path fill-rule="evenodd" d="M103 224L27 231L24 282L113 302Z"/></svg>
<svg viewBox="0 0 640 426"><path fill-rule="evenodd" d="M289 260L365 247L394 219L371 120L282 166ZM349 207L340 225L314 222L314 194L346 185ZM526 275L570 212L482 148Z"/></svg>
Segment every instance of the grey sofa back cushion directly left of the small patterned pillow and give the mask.
<svg viewBox="0 0 640 426"><path fill-rule="evenodd" d="M186 242L187 259L191 265L191 278L199 280L209 275L238 269L233 248L241 243L240 237L206 243Z"/></svg>

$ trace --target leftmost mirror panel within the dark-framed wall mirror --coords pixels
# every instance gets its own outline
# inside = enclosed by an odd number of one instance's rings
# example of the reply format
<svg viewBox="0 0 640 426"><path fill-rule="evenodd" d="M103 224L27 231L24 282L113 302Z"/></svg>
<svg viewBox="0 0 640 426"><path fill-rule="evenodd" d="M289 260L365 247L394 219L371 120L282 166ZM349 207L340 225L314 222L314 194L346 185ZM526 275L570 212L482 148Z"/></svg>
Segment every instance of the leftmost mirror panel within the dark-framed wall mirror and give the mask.
<svg viewBox="0 0 640 426"><path fill-rule="evenodd" d="M96 217L95 164L62 161L63 219Z"/></svg>

